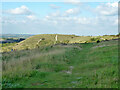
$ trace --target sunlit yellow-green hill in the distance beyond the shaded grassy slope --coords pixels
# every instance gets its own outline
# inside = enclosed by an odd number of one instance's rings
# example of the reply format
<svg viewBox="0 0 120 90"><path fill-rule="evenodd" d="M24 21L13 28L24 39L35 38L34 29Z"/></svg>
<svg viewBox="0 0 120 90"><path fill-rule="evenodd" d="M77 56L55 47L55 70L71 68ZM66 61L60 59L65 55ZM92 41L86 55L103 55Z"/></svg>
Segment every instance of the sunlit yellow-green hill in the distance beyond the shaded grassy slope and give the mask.
<svg viewBox="0 0 120 90"><path fill-rule="evenodd" d="M8 52L11 49L17 49L17 50L23 50L23 49L34 49L37 46L43 47L43 46L49 46L53 44L58 43L90 43L90 42L96 42L96 40L111 40L118 38L116 35L106 35L106 36L75 36L75 35L58 35L58 41L55 41L56 34L40 34L31 36L30 38L27 38L26 40L17 43L13 46L7 46L2 48L2 52ZM43 39L39 44L38 41L40 39Z"/></svg>

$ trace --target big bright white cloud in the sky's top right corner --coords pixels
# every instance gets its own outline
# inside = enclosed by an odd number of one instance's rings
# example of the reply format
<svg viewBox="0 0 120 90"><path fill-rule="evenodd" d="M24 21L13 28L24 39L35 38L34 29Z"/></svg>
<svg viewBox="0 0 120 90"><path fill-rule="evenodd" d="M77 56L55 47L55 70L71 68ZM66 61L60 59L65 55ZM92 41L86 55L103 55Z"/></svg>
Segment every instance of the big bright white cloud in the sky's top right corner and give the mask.
<svg viewBox="0 0 120 90"><path fill-rule="evenodd" d="M96 7L95 12L100 15L114 16L118 14L118 4L117 3L106 3Z"/></svg>

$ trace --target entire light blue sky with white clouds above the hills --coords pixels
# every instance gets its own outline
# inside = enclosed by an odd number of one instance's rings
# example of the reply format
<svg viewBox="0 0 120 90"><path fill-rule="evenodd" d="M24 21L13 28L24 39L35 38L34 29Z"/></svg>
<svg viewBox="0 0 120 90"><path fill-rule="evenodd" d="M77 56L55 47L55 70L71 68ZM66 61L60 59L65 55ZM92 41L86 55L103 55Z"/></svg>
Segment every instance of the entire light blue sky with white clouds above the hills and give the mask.
<svg viewBox="0 0 120 90"><path fill-rule="evenodd" d="M3 34L118 33L118 3L101 2L4 2Z"/></svg>

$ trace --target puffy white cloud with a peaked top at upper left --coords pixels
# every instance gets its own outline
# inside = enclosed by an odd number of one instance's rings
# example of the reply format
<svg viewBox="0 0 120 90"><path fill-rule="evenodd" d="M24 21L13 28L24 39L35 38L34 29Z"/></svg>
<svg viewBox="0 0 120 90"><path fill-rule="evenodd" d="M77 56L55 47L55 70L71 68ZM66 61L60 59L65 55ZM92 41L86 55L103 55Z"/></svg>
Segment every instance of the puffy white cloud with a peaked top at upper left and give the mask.
<svg viewBox="0 0 120 90"><path fill-rule="evenodd" d="M22 5L21 7L15 8L15 9L10 9L6 11L9 14L14 14L14 15L29 15L32 12L29 10L28 7L25 5Z"/></svg>

